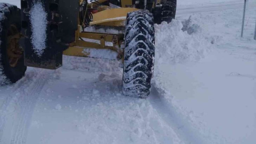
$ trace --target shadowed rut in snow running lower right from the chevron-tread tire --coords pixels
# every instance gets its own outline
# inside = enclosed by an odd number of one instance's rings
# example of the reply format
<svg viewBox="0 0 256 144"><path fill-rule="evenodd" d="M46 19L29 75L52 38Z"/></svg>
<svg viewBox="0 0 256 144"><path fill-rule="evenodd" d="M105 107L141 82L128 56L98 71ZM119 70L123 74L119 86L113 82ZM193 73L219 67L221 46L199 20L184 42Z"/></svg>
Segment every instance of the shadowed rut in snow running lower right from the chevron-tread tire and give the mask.
<svg viewBox="0 0 256 144"><path fill-rule="evenodd" d="M154 85L149 96L149 102L185 144L206 144L203 137L188 122L188 119L178 113L177 109L161 96Z"/></svg>

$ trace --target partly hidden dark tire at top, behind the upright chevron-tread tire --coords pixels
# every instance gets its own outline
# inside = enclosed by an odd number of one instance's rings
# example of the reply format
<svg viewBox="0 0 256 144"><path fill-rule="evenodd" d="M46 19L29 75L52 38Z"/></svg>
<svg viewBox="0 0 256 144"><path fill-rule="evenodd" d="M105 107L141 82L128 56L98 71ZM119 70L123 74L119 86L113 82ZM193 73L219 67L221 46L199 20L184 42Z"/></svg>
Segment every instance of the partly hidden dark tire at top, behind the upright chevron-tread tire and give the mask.
<svg viewBox="0 0 256 144"><path fill-rule="evenodd" d="M163 21L167 23L175 19L177 0L166 0L161 5L156 5L153 10L154 20L156 24L161 24Z"/></svg>

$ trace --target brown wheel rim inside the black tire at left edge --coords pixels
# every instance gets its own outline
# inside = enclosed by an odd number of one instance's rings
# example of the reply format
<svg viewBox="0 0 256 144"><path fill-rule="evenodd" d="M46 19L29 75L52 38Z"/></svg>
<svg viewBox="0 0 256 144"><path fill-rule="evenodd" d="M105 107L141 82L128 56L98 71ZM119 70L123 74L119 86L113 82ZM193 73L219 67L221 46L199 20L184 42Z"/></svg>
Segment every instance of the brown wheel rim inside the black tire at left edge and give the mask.
<svg viewBox="0 0 256 144"><path fill-rule="evenodd" d="M22 57L23 49L19 46L20 33L15 25L11 25L7 36L7 56L9 65L16 67Z"/></svg>

